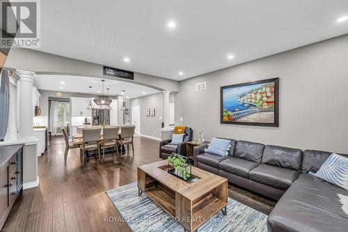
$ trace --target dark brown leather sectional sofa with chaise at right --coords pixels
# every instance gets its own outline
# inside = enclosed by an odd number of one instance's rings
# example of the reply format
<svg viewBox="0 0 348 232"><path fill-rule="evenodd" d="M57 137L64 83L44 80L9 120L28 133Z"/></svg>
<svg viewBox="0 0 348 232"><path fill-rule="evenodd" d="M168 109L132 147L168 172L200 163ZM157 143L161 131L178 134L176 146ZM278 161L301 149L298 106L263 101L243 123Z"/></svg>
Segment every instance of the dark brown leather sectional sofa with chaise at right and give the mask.
<svg viewBox="0 0 348 232"><path fill-rule="evenodd" d="M195 165L277 200L268 217L269 232L348 231L348 215L337 195L348 196L348 191L308 174L332 153L236 140L231 146L223 157L197 146Z"/></svg>

